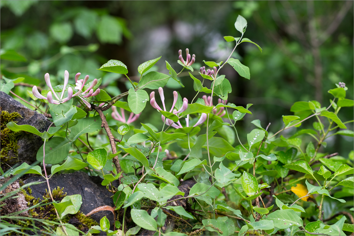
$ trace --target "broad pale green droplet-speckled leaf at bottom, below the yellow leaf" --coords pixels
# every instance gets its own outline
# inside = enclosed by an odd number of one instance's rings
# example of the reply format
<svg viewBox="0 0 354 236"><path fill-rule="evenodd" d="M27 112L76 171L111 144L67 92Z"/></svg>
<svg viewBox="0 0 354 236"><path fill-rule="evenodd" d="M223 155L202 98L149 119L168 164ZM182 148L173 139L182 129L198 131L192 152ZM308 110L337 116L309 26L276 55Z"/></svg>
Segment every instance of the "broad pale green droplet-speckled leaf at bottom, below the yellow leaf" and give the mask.
<svg viewBox="0 0 354 236"><path fill-rule="evenodd" d="M268 215L268 219L273 219L274 227L278 229L287 229L292 225L297 227L302 226L303 222L294 210L276 210Z"/></svg>

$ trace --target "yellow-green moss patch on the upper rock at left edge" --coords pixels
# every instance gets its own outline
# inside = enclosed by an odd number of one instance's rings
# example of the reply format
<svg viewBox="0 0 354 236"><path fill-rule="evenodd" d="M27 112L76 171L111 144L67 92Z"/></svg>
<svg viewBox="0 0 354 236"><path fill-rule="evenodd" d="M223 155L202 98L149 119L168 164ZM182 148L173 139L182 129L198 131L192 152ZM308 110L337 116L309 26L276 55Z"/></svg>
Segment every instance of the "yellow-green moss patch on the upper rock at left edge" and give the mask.
<svg viewBox="0 0 354 236"><path fill-rule="evenodd" d="M1 111L0 113L0 143L1 143L1 151L0 151L0 160L1 160L1 168L3 170L7 169L7 165L3 165L7 163L13 158L18 157L18 148L17 140L19 136L22 134L22 131L13 132L6 127L6 124L10 121L13 121L15 118L21 117L18 112L8 113L7 111ZM21 117L23 118L23 117ZM15 153L14 157L9 157L8 152L12 151Z"/></svg>

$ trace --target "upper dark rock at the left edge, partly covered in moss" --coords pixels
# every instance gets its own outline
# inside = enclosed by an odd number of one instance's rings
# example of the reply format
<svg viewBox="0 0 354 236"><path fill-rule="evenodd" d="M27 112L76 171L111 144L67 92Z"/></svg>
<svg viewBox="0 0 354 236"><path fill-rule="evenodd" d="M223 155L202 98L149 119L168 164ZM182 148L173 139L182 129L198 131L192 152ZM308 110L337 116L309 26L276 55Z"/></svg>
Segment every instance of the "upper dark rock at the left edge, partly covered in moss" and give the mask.
<svg viewBox="0 0 354 236"><path fill-rule="evenodd" d="M2 111L7 111L9 113L18 112L23 117L14 119L14 121L17 121L18 125L32 125L40 132L43 132L47 131L49 125L52 123L44 115L25 107L5 92L0 92L0 100ZM20 161L19 164L22 164L23 162L32 164L36 161L37 151L43 145L43 141L38 135L23 133L18 139L17 144L20 147L18 149L18 159L12 158L7 162L8 164L17 161ZM9 158L16 156L12 151L8 152L7 155Z"/></svg>

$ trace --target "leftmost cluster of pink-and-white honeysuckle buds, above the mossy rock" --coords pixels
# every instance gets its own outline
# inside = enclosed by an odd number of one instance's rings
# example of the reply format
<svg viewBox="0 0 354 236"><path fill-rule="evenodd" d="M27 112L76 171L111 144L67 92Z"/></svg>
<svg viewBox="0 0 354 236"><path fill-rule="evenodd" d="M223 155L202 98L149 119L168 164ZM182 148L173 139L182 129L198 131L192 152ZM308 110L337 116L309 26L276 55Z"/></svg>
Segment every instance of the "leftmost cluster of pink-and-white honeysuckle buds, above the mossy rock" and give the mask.
<svg viewBox="0 0 354 236"><path fill-rule="evenodd" d="M85 103L85 105L87 107L91 107L90 103L87 102L85 99L87 99L88 97L92 97L92 96L96 96L99 94L100 92L100 89L97 89L95 92L93 92L93 86L95 86L97 84L97 79L94 79L92 84L90 85L90 87L88 89L86 89L84 92L82 92L82 89L84 88L84 85L86 83L86 81L89 79L89 75L86 75L85 79L80 79L78 80L79 76L80 76L81 73L77 73L75 75L75 82L76 82L76 86L75 86L75 89L77 89L78 91L75 92L75 94L73 94L73 89L71 87L68 88L68 96L67 97L64 97L64 91L65 91L65 88L69 82L69 72L68 71L65 71L64 72L64 86L63 86L63 91L60 93L56 93L50 83L50 77L49 77L49 74L46 73L44 75L44 79L45 79L45 82L46 84L48 85L48 87L52 90L52 91L49 91L48 94L47 94L47 97L41 95L37 89L37 86L33 86L32 88L32 92L33 92L33 95L39 99L45 99L45 100L48 100L49 103L52 103L52 104L60 104L60 103L64 103L66 101L69 101L72 97L75 97L75 96L78 96L80 97L80 99ZM52 95L52 92L55 96L55 98L57 100L54 100L53 99L53 95ZM59 98L60 97L60 98Z"/></svg>

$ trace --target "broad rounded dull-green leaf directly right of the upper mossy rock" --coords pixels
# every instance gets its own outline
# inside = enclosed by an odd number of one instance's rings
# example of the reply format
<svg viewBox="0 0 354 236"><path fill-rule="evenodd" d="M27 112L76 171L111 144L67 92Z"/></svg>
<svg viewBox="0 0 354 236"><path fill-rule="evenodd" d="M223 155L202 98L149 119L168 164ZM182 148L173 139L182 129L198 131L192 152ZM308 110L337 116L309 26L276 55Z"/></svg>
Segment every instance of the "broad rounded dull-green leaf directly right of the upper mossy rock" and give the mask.
<svg viewBox="0 0 354 236"><path fill-rule="evenodd" d="M64 137L53 137L45 144L45 163L58 164L68 156L72 142ZM43 145L36 156L37 161L43 162Z"/></svg>

